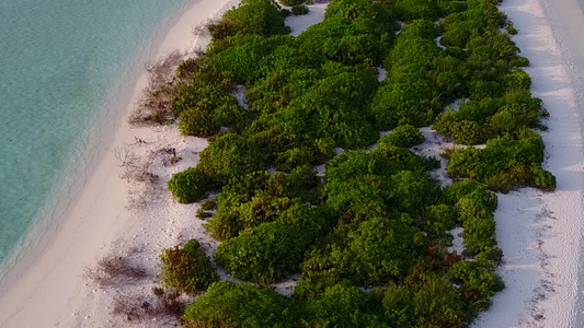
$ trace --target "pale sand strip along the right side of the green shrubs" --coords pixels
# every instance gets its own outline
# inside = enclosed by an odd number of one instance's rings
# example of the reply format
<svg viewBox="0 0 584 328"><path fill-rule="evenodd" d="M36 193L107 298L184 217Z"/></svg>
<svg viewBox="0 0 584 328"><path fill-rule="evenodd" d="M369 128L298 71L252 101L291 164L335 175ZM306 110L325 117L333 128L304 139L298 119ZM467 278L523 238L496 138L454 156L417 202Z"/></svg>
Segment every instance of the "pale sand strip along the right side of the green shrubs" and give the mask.
<svg viewBox="0 0 584 328"><path fill-rule="evenodd" d="M545 167L558 188L499 196L496 234L504 253L499 272L506 289L474 327L580 327L584 153L576 77L584 48L575 36L584 32L584 16L575 0L505 0L501 10L519 31L513 40L530 60L531 92L550 113L549 130L541 133Z"/></svg>

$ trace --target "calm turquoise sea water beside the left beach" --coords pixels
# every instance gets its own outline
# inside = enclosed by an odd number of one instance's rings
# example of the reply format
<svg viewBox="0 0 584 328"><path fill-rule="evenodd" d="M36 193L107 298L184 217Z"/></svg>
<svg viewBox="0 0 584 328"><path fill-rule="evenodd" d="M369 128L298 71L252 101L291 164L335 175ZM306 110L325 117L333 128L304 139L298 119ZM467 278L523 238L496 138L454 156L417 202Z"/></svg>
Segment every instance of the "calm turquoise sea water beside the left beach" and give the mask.
<svg viewBox="0 0 584 328"><path fill-rule="evenodd" d="M116 90L186 2L0 0L0 263L70 197Z"/></svg>

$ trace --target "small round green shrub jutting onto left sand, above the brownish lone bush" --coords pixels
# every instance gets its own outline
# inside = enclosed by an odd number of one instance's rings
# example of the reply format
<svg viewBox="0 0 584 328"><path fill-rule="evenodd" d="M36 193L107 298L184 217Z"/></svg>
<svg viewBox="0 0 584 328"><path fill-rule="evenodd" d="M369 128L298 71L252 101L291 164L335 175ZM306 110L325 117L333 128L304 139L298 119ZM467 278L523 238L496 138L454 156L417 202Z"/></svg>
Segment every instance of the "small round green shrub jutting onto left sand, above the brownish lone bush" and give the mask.
<svg viewBox="0 0 584 328"><path fill-rule="evenodd" d="M209 176L195 167L174 174L168 183L169 190L180 203L199 200L210 186Z"/></svg>

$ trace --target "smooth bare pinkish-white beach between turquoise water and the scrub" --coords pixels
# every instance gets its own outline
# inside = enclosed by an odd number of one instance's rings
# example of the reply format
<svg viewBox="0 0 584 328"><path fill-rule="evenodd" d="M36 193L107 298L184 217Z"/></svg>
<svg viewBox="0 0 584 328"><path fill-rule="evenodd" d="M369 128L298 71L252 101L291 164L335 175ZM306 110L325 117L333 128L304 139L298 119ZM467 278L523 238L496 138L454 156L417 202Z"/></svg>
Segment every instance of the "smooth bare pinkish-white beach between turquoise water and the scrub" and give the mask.
<svg viewBox="0 0 584 328"><path fill-rule="evenodd" d="M168 26L154 35L149 49L151 59L174 49L193 47L192 27L215 15L233 1L195 0L181 9ZM131 221L126 211L126 183L119 178L119 163L111 150L134 141L135 129L125 117L147 83L142 69L128 79L117 96L122 114L108 122L115 131L101 136L100 154L73 197L75 201L62 218L53 223L50 233L39 246L27 250L8 272L0 290L1 327L88 327L100 326L79 314L88 303L91 286L82 278L84 268L103 257ZM94 155L94 154L92 154ZM76 189L77 190L77 189ZM103 318L102 318L103 319Z"/></svg>

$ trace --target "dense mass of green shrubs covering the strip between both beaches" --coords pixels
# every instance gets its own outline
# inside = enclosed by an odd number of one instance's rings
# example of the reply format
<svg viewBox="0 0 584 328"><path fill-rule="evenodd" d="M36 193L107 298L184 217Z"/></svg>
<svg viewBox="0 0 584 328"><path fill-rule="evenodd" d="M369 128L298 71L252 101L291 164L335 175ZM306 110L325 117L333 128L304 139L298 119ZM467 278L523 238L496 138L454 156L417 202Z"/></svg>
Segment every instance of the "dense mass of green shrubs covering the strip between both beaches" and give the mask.
<svg viewBox="0 0 584 328"><path fill-rule="evenodd" d="M222 241L215 261L259 286L210 284L186 326L461 327L490 306L503 254L489 189L556 187L534 130L547 114L496 2L333 0L323 22L291 37L274 1L243 0L209 26L206 54L178 69L172 113L210 144L169 189L180 202L219 191L206 223ZM424 126L486 143L451 153L451 186L430 180L438 162L409 149ZM463 254L448 250L457 226ZM179 262L202 267L169 273L165 259L171 286L195 293L217 280L199 255ZM294 296L266 289L293 273Z"/></svg>

